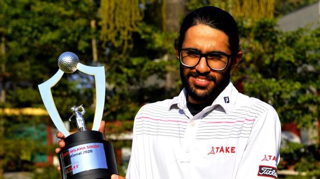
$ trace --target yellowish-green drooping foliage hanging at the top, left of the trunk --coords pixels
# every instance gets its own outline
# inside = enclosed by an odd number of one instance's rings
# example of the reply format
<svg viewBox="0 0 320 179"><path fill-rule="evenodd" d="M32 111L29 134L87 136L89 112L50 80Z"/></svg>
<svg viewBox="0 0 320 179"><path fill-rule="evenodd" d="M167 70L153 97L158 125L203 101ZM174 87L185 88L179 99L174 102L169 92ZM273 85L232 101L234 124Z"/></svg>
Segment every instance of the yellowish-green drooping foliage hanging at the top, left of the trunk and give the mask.
<svg viewBox="0 0 320 179"><path fill-rule="evenodd" d="M104 46L110 41L113 46L122 48L122 54L128 48L132 49L134 45L132 33L139 30L137 23L143 20L146 4L153 2L154 0L101 1L100 25ZM162 4L165 2L164 0Z"/></svg>

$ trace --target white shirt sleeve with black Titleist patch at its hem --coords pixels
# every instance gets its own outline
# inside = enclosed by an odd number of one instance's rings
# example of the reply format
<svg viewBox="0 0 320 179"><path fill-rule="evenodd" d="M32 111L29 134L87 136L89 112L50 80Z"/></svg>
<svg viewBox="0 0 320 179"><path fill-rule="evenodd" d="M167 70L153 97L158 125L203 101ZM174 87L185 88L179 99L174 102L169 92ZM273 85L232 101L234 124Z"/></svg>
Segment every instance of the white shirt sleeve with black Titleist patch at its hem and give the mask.
<svg viewBox="0 0 320 179"><path fill-rule="evenodd" d="M253 123L235 178L277 178L281 126L272 108Z"/></svg>

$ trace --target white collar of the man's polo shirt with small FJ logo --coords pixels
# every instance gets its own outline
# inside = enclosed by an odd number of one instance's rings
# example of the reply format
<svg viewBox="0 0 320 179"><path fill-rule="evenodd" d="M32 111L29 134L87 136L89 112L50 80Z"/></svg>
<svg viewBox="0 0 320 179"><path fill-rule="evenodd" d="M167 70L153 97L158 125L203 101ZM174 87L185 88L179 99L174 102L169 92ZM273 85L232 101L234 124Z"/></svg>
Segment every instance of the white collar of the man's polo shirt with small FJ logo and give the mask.
<svg viewBox="0 0 320 179"><path fill-rule="evenodd" d="M219 105L223 108L223 110L225 110L226 113L231 112L238 98L238 94L239 94L238 90L230 81L227 87L223 89L223 91L213 101L211 108L213 108L216 105ZM172 103L169 106L168 110L172 109L173 105L177 105L179 109L185 109L187 107L185 88L182 89L179 96L173 98Z"/></svg>

